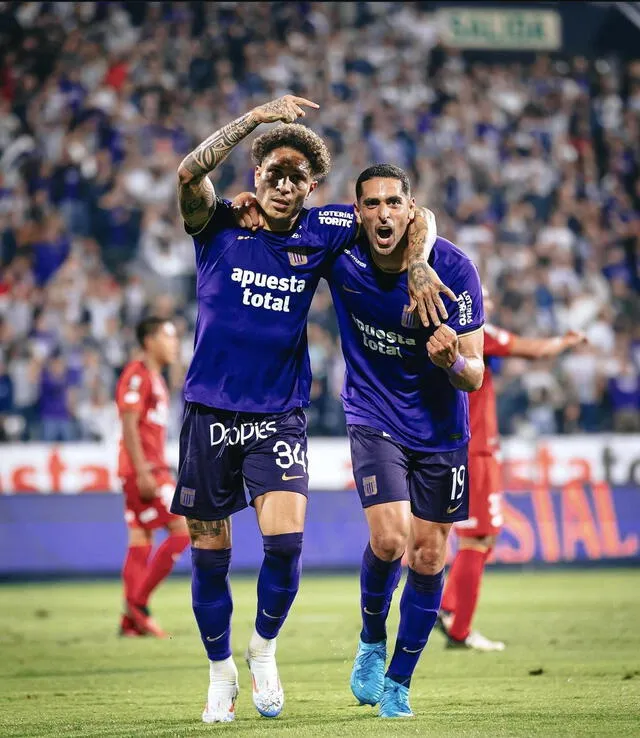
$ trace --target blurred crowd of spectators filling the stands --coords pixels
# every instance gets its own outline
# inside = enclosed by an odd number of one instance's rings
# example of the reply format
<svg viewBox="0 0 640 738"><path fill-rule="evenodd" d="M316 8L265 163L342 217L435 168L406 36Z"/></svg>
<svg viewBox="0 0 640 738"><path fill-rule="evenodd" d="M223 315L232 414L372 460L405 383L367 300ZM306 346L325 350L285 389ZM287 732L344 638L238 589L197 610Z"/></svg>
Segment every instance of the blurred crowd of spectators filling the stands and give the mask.
<svg viewBox="0 0 640 738"><path fill-rule="evenodd" d="M109 439L143 315L195 322L177 210L182 157L293 92L351 202L373 162L410 173L472 256L492 321L584 330L555 362L502 361L504 434L640 430L640 61L470 63L421 3L0 3L0 440ZM252 189L249 146L215 172ZM344 364L321 284L309 320L312 434L344 432Z"/></svg>

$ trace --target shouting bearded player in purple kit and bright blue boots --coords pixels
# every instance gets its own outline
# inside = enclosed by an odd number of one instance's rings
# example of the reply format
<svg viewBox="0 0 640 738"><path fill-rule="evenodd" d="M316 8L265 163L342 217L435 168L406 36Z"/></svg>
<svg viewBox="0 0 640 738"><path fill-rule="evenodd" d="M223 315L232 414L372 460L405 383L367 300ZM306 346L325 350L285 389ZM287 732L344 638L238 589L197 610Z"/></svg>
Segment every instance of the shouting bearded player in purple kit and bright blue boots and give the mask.
<svg viewBox="0 0 640 738"><path fill-rule="evenodd" d="M447 536L468 515L468 392L482 384L478 273L437 238L429 261L458 295L425 328L409 312L407 229L415 211L406 173L376 165L356 183L366 239L328 273L346 363L342 400L353 473L370 539L360 575L362 630L351 675L361 703L411 717L409 685L440 608ZM386 620L407 551L400 624L385 674Z"/></svg>

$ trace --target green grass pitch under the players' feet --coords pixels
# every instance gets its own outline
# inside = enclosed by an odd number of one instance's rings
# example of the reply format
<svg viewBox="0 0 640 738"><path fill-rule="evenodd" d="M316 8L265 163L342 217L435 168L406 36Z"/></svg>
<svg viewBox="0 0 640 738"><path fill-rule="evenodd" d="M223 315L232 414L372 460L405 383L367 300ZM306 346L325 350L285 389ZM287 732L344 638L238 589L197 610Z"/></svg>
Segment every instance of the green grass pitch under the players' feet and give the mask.
<svg viewBox="0 0 640 738"><path fill-rule="evenodd" d="M255 581L235 577L240 696L226 725L200 722L208 668L186 578L155 595L164 641L116 637L116 581L2 585L0 736L639 736L639 584L637 569L490 571L477 626L507 650L451 652L434 632L412 683L416 718L390 721L349 690L357 575L307 574L278 644L285 708L268 720L242 658Z"/></svg>

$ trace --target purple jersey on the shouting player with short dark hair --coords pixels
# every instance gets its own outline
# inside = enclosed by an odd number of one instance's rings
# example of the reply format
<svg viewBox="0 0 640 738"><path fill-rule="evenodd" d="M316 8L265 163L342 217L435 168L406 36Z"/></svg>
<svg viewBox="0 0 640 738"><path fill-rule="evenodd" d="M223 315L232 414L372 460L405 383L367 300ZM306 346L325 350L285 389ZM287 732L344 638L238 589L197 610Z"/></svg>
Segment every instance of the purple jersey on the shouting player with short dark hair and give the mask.
<svg viewBox="0 0 640 738"><path fill-rule="evenodd" d="M458 296L443 296L447 324L464 335L484 323L482 288L473 262L444 238L429 262ZM329 274L346 362L342 401L347 424L388 434L409 449L453 451L469 440L467 393L429 359L424 328L409 312L407 273L378 269L369 247L343 249Z"/></svg>

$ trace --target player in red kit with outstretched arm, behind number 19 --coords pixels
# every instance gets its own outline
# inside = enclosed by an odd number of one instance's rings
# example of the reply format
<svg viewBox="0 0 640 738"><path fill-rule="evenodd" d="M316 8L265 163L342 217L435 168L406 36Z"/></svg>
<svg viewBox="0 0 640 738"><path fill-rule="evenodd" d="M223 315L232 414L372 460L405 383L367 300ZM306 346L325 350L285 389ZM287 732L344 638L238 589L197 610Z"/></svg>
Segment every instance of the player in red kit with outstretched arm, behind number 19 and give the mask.
<svg viewBox="0 0 640 738"><path fill-rule="evenodd" d="M483 290L485 310L491 300ZM554 338L522 338L485 324L484 356L514 356L546 359L557 356L586 340L573 331ZM498 451L498 416L491 369L486 366L478 392L469 395L471 441L469 443L469 519L456 523L458 552L449 569L442 597L439 625L450 647L480 651L502 651L504 643L490 641L471 630L478 604L484 565L502 527L501 479Z"/></svg>

